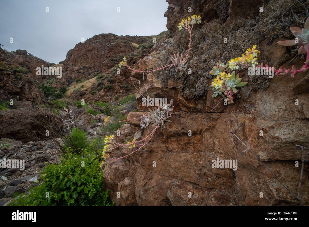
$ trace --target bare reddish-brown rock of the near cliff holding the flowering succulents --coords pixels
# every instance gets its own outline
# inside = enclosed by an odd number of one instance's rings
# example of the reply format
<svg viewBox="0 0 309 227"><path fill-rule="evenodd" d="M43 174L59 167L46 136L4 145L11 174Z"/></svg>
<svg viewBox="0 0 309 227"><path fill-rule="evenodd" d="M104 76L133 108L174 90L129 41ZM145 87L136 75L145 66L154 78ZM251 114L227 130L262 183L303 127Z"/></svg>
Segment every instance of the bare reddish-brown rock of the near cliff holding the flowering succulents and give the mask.
<svg viewBox="0 0 309 227"><path fill-rule="evenodd" d="M187 6L184 1L168 2L167 27L174 30L176 22L173 23L170 18L179 21L186 15L184 9ZM193 12L205 12L206 3L198 1L198 9ZM233 4L234 1L229 4L230 19L235 15L231 13ZM242 11L238 14L241 15ZM210 14L209 19L213 17ZM135 69L156 69L158 65L164 65L165 53L174 42L173 39L158 42L147 57L138 61ZM290 51L276 42L260 40L260 51L265 53L270 63L279 64L276 67L291 67L290 62L280 61L286 59ZM302 63L302 59L297 61L296 68L300 68ZM139 73L132 73L132 76L143 78ZM241 77L248 81L248 71L243 71ZM142 95L167 97L174 100L175 114L170 119L172 122L166 123L164 134L156 134L146 150L106 162L103 180L116 205L299 204L263 163L290 191L297 194L302 155L308 160L308 153L296 146L309 146L308 72L297 74L294 79L290 75L274 76L266 90L252 91L248 99L237 99L235 104L227 107L219 103L221 98L212 99L212 92L195 99L185 99L177 80L162 82L157 72L144 75L143 81L145 86L136 93L139 109L146 110L141 105ZM142 114L144 112L132 112L128 119ZM138 120L123 125L120 128L122 137L116 139L132 136L138 131L138 125ZM188 135L189 130L191 136ZM128 134L128 131L133 133ZM144 129L143 137L148 134L149 130ZM111 157L123 157L130 152L121 148L113 151ZM213 168L212 161L218 158L237 160L237 170ZM296 162L299 166L295 165ZM309 204L308 167L305 163L300 190L305 205ZM118 192L120 196L117 196Z"/></svg>

